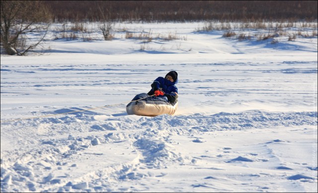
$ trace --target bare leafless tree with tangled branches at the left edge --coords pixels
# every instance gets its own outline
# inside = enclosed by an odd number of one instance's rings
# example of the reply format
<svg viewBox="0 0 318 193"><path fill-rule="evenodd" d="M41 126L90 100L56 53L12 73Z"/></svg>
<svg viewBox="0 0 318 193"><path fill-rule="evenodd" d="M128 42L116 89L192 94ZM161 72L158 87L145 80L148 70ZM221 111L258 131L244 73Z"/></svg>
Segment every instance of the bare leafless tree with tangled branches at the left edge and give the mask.
<svg viewBox="0 0 318 193"><path fill-rule="evenodd" d="M48 8L39 0L0 0L1 47L8 55L25 55L44 40L50 25ZM39 33L31 40L31 33Z"/></svg>

